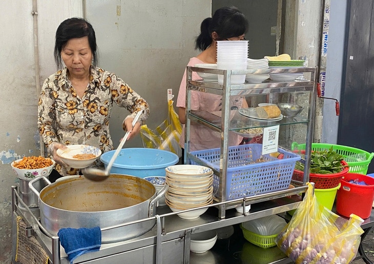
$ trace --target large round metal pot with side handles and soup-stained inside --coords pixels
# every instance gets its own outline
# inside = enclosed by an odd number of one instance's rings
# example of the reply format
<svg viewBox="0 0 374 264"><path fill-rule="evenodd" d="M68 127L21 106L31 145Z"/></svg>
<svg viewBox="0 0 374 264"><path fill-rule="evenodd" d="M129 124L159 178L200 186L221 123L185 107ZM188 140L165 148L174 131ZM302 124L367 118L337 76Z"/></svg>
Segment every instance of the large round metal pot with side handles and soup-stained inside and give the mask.
<svg viewBox="0 0 374 264"><path fill-rule="evenodd" d="M48 186L40 193L34 182L45 180ZM61 228L106 228L148 218L156 214L156 202L166 191L156 196L151 182L139 177L111 174L104 181L91 181L83 176L51 182L38 177L29 182L38 195L40 222L52 235ZM101 242L111 243L147 233L155 219L102 231Z"/></svg>

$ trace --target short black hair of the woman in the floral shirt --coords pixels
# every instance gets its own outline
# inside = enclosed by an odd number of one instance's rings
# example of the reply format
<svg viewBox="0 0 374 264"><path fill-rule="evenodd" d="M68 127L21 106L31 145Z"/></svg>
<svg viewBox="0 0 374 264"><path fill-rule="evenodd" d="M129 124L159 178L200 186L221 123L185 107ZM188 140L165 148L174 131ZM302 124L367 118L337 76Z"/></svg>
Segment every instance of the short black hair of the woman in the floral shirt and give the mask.
<svg viewBox="0 0 374 264"><path fill-rule="evenodd" d="M63 21L56 30L56 40L54 46L54 60L57 69L63 68L61 51L66 47L71 38L88 36L88 43L92 52L92 65L97 66L97 45L95 31L90 23L84 18L72 17Z"/></svg>

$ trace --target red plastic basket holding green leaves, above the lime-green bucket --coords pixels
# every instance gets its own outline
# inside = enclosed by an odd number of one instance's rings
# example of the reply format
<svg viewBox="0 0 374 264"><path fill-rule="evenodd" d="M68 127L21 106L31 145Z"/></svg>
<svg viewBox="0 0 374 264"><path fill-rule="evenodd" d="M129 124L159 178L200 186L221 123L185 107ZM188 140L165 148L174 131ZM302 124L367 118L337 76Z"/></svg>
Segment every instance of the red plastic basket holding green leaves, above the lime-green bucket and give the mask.
<svg viewBox="0 0 374 264"><path fill-rule="evenodd" d="M341 164L343 166L347 166L348 164L342 160ZM342 177L348 173L349 167L344 167L342 172L339 173L331 173L331 174L317 174L317 173L309 173L309 182L315 183L316 189L330 189L335 188L340 184L340 180ZM297 169L294 170L292 175L293 180L303 181L304 172L299 171Z"/></svg>

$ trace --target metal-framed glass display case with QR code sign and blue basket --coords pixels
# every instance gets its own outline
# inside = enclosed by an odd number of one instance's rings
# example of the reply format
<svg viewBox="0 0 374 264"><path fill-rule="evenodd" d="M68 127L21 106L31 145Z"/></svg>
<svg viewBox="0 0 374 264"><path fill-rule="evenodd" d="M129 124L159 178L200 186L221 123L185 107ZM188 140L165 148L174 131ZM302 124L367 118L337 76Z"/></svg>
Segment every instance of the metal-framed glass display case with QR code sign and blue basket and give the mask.
<svg viewBox="0 0 374 264"><path fill-rule="evenodd" d="M193 72L209 78L193 80ZM216 74L223 75L222 84L213 78ZM248 79L244 84L231 84L233 75L244 74L269 74L271 78L260 83L248 83L251 81ZM308 153L313 141L316 95L316 68L217 70L188 67L185 164L212 168L218 203L243 198L251 204L251 200L261 194L288 189L291 181L294 185L305 186L309 176ZM215 102L206 99L208 96L215 98ZM192 98L199 98L200 106L206 101L219 107L207 105L203 109L192 103ZM264 106L261 104L277 105L281 114L271 118L260 116L256 108ZM292 150L295 142L306 144L305 153ZM300 159L305 162L304 178L295 182L293 170ZM237 203L225 203L220 207L219 217L224 218L225 209L236 206Z"/></svg>

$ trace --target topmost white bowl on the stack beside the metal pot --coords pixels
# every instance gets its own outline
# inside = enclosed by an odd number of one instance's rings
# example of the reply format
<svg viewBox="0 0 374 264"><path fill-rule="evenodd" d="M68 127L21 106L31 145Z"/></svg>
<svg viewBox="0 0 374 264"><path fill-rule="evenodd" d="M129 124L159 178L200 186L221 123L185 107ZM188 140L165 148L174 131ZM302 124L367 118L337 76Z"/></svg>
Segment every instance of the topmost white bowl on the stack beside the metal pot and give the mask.
<svg viewBox="0 0 374 264"><path fill-rule="evenodd" d="M200 165L173 165L165 168L166 175L173 178L199 178L212 175L213 170Z"/></svg>

